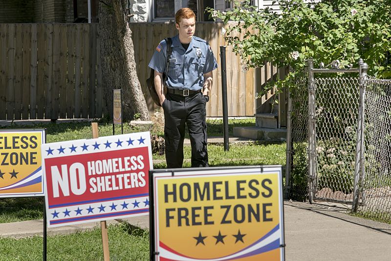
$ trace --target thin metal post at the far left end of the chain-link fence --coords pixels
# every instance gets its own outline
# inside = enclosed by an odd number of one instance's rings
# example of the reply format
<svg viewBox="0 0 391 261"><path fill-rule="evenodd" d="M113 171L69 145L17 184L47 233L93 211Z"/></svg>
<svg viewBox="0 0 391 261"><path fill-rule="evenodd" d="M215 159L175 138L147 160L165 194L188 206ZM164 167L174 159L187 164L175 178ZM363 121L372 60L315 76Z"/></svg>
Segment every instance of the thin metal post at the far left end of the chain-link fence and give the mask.
<svg viewBox="0 0 391 261"><path fill-rule="evenodd" d="M288 93L288 110L286 115L286 165L285 165L285 186L284 199L288 199L290 190L290 169L292 158L292 98L290 97L289 88Z"/></svg>

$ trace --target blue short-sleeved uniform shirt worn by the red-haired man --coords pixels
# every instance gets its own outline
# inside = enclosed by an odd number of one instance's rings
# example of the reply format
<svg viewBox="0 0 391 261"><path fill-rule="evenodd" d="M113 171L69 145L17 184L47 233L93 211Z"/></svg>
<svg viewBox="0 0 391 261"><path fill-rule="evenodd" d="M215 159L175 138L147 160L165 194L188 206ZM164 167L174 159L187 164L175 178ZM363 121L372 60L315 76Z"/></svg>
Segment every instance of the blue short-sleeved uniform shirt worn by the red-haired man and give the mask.
<svg viewBox="0 0 391 261"><path fill-rule="evenodd" d="M169 88L178 90L202 90L204 73L217 69L216 58L209 44L193 36L187 50L179 42L179 35L172 38L172 55L170 58L167 82ZM165 72L167 64L166 41L156 47L149 67L159 73Z"/></svg>

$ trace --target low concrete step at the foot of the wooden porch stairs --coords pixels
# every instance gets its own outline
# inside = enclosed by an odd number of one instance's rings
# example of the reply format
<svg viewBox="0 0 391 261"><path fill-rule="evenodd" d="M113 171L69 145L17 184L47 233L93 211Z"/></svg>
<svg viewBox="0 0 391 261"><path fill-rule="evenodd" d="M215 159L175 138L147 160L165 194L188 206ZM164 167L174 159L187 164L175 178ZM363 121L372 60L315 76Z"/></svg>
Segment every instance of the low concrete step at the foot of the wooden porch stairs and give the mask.
<svg viewBox="0 0 391 261"><path fill-rule="evenodd" d="M257 141L286 141L286 129L234 127L234 136Z"/></svg>

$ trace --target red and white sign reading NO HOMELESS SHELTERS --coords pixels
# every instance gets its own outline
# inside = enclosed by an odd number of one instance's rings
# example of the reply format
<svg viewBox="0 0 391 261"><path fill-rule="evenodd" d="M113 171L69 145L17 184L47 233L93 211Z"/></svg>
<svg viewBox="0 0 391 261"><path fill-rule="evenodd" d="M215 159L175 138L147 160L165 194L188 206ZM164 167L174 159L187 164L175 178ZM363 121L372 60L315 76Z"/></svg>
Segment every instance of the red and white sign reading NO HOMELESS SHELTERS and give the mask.
<svg viewBox="0 0 391 261"><path fill-rule="evenodd" d="M148 215L149 132L42 145L48 227Z"/></svg>

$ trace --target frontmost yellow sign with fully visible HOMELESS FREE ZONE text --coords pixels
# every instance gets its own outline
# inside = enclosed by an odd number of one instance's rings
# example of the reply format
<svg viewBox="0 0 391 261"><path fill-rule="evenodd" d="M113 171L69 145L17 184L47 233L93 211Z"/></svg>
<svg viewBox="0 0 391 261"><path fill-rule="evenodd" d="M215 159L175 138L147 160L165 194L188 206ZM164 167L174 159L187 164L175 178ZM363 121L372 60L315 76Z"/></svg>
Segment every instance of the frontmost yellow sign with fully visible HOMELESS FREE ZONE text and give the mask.
<svg viewBox="0 0 391 261"><path fill-rule="evenodd" d="M162 261L283 260L281 166L154 173Z"/></svg>

